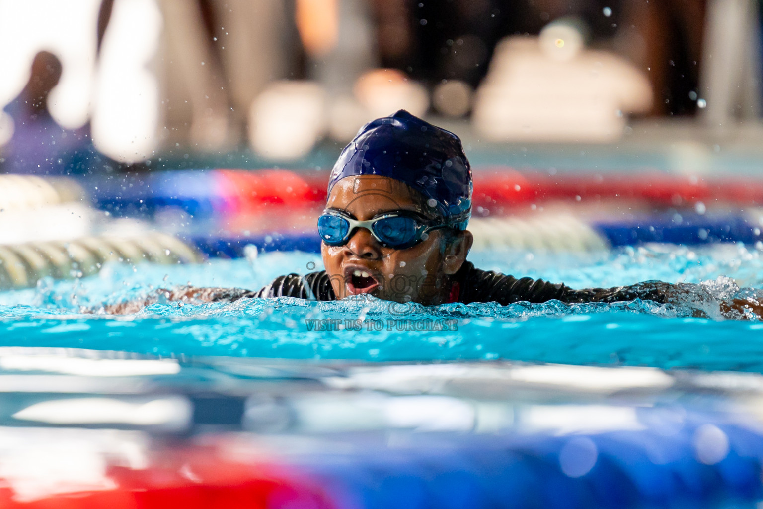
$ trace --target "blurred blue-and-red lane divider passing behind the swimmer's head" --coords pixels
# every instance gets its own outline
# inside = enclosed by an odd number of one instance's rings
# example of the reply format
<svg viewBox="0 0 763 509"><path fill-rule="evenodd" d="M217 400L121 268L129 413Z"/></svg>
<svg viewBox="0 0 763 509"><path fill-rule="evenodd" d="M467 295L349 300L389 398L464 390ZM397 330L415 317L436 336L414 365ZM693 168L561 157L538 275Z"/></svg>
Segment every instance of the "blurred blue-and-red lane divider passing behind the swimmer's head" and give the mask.
<svg viewBox="0 0 763 509"><path fill-rule="evenodd" d="M193 217L257 214L264 208L312 208L326 201L328 172L304 169L188 169L80 181L96 208L119 216L153 217L165 208ZM543 201L639 201L654 207L714 203L763 205L763 179L698 178L663 172L620 174L474 170L474 208L501 214Z"/></svg>

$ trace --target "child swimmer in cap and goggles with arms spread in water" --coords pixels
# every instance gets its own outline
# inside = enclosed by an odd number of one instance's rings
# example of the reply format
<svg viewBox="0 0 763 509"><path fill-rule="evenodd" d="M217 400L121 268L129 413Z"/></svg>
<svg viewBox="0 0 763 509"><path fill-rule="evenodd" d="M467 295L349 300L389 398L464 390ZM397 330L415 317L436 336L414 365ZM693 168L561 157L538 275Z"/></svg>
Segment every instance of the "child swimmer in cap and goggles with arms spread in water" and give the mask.
<svg viewBox="0 0 763 509"><path fill-rule="evenodd" d="M471 213L472 170L459 137L401 110L366 124L333 167L326 208L317 220L325 270L282 275L255 292L185 287L159 295L188 303L274 297L333 301L365 294L424 305L642 299L685 306L700 288L644 282L576 290L480 270L467 260ZM106 311L139 311L159 295ZM763 312L752 299L717 305L726 317ZM699 309L696 314L706 315Z"/></svg>

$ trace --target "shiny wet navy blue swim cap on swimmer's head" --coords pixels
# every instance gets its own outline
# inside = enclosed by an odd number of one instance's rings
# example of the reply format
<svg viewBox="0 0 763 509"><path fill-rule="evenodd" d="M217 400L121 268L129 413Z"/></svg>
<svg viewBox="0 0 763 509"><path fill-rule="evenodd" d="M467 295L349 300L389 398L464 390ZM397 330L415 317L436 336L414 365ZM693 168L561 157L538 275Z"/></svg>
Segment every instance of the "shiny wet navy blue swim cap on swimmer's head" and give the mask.
<svg viewBox="0 0 763 509"><path fill-rule="evenodd" d="M472 215L472 169L461 140L400 110L359 130L336 160L331 188L341 179L375 175L398 180L426 198L449 227L465 230Z"/></svg>

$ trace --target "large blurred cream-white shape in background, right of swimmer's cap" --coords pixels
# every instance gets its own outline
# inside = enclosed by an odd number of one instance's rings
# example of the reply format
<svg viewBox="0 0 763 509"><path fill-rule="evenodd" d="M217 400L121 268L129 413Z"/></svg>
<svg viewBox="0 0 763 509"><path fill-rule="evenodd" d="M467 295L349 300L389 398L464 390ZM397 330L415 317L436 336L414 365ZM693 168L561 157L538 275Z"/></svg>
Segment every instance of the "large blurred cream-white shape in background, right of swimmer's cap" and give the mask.
<svg viewBox="0 0 763 509"><path fill-rule="evenodd" d="M625 115L648 111L652 89L612 53L584 50L574 24L498 43L477 91L473 121L491 141L607 142Z"/></svg>

